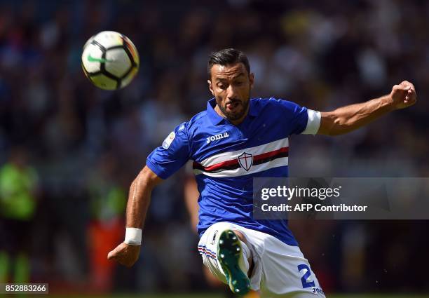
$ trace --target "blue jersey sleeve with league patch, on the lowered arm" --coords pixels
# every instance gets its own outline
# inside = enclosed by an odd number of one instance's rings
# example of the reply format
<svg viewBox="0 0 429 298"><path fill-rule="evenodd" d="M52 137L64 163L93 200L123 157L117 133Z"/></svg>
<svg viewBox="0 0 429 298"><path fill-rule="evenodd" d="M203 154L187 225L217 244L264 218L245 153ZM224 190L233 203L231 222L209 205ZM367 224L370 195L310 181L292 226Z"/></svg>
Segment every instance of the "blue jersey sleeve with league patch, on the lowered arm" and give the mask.
<svg viewBox="0 0 429 298"><path fill-rule="evenodd" d="M161 179L167 179L189 160L189 139L184 123L168 135L162 146L147 157L146 165Z"/></svg>

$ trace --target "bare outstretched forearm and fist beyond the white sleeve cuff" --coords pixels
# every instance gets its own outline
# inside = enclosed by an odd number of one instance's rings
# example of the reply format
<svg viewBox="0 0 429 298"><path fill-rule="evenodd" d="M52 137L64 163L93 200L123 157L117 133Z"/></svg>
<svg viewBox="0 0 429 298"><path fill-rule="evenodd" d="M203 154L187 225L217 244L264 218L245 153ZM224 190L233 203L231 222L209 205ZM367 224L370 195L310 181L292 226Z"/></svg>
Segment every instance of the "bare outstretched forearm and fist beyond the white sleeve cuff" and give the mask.
<svg viewBox="0 0 429 298"><path fill-rule="evenodd" d="M388 95L340 107L334 111L322 112L319 135L341 135L367 125L383 114L395 109L410 107L417 101L416 89L409 81L403 81L392 88Z"/></svg>

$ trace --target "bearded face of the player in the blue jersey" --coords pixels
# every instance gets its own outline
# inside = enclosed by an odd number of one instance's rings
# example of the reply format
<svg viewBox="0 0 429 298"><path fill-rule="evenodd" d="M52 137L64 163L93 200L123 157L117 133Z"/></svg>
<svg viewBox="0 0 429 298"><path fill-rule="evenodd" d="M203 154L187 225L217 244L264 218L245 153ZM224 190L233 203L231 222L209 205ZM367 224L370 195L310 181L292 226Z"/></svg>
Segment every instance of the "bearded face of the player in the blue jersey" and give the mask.
<svg viewBox="0 0 429 298"><path fill-rule="evenodd" d="M247 73L243 63L213 65L211 80L207 82L216 98L217 113L233 124L243 121L249 111L250 89L254 82L254 75Z"/></svg>

